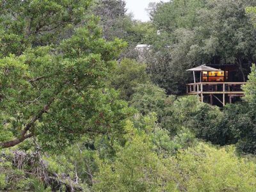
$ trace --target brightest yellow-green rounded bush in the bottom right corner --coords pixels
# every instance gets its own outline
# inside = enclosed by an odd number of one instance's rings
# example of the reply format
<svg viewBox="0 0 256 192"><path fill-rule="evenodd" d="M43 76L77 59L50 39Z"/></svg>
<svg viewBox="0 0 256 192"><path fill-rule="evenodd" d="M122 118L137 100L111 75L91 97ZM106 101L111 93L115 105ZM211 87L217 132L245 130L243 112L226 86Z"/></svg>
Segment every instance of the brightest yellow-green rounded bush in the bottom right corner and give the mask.
<svg viewBox="0 0 256 192"><path fill-rule="evenodd" d="M234 150L204 143L180 151L177 164L188 191L254 191L256 165L236 157Z"/></svg>

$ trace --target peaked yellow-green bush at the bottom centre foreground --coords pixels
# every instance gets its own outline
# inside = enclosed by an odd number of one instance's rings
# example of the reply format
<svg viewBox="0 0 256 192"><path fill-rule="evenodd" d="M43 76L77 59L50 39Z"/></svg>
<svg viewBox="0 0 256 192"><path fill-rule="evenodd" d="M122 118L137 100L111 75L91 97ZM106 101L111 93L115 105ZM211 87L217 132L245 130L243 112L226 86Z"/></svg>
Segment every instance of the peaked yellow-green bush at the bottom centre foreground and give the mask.
<svg viewBox="0 0 256 192"><path fill-rule="evenodd" d="M113 163L98 159L99 173L95 177L95 191L175 191L172 170L165 166L161 156L152 150L152 143L145 132L131 131L124 147L118 148ZM131 134L132 133L132 134Z"/></svg>

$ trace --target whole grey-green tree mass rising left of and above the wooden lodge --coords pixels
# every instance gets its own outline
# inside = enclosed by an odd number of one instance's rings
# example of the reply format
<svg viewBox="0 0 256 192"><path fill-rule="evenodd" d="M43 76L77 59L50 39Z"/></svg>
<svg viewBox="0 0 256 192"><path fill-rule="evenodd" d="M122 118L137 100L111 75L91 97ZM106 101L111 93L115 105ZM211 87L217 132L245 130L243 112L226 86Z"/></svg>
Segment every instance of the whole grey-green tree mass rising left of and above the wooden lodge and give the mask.
<svg viewBox="0 0 256 192"><path fill-rule="evenodd" d="M152 22L161 35L147 57L152 81L168 93L184 93L186 69L202 63L235 64L237 81L245 81L255 62L255 29L245 9L255 3L174 0L153 6Z"/></svg>

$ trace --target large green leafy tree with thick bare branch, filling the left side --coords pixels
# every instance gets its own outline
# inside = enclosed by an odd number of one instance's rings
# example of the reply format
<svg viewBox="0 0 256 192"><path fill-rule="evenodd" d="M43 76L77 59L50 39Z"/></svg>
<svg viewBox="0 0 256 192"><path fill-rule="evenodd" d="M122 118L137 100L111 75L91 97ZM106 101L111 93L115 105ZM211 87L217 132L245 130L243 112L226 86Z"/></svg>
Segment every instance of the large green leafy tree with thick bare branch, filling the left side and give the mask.
<svg viewBox="0 0 256 192"><path fill-rule="evenodd" d="M106 42L97 20L85 19L89 1L15 2L1 6L0 146L34 137L64 147L122 131L130 110L104 82L125 44Z"/></svg>

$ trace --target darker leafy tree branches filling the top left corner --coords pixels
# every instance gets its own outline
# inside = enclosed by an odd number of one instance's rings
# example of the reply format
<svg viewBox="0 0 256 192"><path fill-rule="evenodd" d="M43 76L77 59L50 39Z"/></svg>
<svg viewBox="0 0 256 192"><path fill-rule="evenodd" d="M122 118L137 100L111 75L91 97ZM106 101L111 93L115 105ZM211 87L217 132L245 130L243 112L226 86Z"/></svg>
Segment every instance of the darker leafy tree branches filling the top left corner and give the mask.
<svg viewBox="0 0 256 192"><path fill-rule="evenodd" d="M1 1L1 56L60 41L81 24L89 4L90 0Z"/></svg>

